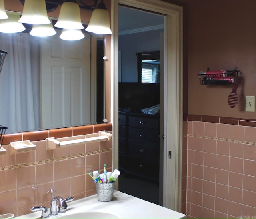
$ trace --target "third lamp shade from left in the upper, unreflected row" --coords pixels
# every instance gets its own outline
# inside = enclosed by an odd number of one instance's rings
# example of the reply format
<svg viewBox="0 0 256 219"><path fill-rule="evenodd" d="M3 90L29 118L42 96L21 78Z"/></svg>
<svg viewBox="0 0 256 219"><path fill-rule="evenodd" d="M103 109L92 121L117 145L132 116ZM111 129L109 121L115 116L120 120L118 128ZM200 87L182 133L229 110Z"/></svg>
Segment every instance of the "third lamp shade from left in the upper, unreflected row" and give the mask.
<svg viewBox="0 0 256 219"><path fill-rule="evenodd" d="M60 8L58 21L54 26L66 30L84 29L78 4L75 2L64 2Z"/></svg>

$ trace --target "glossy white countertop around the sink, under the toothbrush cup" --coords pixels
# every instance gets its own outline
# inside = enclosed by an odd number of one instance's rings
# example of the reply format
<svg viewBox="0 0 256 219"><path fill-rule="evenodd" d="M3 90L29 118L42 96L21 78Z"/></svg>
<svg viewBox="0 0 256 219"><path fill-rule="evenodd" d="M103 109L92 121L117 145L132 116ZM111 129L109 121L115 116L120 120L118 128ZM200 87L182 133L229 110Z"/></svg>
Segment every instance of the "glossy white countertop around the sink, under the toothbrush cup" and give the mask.
<svg viewBox="0 0 256 219"><path fill-rule="evenodd" d="M66 198L66 197L65 197ZM97 195L67 203L66 213L50 216L49 218L61 218L81 212L111 213L118 218L186 218L186 215L167 209L160 205L144 201L134 196L114 191L113 201L98 201ZM49 206L46 206L49 207ZM41 211L22 215L17 218L40 218Z"/></svg>

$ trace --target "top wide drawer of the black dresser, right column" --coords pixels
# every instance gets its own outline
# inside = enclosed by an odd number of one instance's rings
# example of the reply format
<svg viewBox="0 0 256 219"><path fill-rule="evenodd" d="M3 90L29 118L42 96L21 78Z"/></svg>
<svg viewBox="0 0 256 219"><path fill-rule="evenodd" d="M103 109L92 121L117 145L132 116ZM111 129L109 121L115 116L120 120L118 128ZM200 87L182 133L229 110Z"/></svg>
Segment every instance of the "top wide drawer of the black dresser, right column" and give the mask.
<svg viewBox="0 0 256 219"><path fill-rule="evenodd" d="M128 125L147 129L158 129L158 119L129 116Z"/></svg>

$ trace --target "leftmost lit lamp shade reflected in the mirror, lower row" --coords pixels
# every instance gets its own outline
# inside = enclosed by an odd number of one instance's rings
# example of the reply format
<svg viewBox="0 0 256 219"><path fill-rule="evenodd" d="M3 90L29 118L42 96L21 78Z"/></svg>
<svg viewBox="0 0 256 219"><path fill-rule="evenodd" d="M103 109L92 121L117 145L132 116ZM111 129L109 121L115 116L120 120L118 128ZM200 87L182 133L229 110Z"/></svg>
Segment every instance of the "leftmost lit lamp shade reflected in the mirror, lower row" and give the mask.
<svg viewBox="0 0 256 219"><path fill-rule="evenodd" d="M26 28L18 22L20 14L15 12L8 12L8 19L0 20L1 33L18 33L24 31Z"/></svg>

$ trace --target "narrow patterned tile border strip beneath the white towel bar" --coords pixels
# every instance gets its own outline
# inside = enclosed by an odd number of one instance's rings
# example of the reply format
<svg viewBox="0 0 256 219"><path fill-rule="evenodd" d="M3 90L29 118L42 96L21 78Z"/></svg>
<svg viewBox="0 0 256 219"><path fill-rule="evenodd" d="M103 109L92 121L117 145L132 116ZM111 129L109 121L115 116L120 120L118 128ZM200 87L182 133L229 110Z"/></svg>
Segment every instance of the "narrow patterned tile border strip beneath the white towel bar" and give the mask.
<svg viewBox="0 0 256 219"><path fill-rule="evenodd" d="M0 171L6 170L6 169L15 169L15 168L19 168L19 167L33 166L33 165L44 164L44 163L51 163L51 162L55 162L55 161L67 160L67 159L76 158L76 157L85 157L87 155L104 153L104 152L112 151L112 150L113 150L112 148L109 148L109 149L104 149L104 150L99 150L99 151L91 151L88 153L82 153L82 154L77 154L77 155L72 155L72 156L67 156L67 157L58 157L58 158L54 158L54 159L48 159L48 160L38 161L38 162L34 162L34 163L22 163L22 164L12 165L12 166L8 166L8 167L0 167Z"/></svg>

